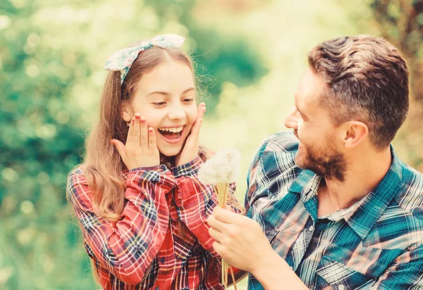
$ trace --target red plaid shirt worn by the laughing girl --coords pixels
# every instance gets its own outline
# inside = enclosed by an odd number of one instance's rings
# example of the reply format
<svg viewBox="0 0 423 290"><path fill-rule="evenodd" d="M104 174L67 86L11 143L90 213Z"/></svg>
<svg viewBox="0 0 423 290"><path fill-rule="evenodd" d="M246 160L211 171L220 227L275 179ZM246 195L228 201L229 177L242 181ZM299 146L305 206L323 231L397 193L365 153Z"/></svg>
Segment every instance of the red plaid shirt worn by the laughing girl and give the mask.
<svg viewBox="0 0 423 290"><path fill-rule="evenodd" d="M83 168L68 178L68 199L82 226L85 250L106 289L223 289L219 257L207 217L216 195L201 184L200 157L168 170L165 165L123 172L123 219L94 214ZM181 233L178 221L188 231Z"/></svg>

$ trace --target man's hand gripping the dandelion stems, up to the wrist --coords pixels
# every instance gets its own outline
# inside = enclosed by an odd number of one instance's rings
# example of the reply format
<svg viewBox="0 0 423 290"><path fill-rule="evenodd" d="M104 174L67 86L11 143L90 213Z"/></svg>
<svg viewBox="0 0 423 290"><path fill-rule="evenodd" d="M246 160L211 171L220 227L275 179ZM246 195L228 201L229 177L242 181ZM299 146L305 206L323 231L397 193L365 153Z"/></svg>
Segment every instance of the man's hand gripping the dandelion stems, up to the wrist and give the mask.
<svg viewBox="0 0 423 290"><path fill-rule="evenodd" d="M209 234L216 241L214 250L231 265L254 273L276 253L262 231L262 227L249 217L216 206L207 219Z"/></svg>

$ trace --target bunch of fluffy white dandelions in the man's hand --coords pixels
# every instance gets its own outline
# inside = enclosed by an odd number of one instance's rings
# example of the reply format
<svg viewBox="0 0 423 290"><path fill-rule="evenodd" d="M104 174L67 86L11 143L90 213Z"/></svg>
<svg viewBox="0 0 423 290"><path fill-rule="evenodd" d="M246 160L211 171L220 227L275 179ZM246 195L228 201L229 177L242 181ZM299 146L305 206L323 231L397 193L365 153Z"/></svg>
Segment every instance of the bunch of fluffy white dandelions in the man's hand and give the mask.
<svg viewBox="0 0 423 290"><path fill-rule="evenodd" d="M207 160L198 171L198 178L204 184L214 186L218 206L226 207L228 198L231 197L229 184L235 182L240 172L240 152L236 149L221 149L216 152L213 158ZM235 277L232 267L222 258L222 284L228 286L228 270L231 269L231 276L234 289L236 290Z"/></svg>

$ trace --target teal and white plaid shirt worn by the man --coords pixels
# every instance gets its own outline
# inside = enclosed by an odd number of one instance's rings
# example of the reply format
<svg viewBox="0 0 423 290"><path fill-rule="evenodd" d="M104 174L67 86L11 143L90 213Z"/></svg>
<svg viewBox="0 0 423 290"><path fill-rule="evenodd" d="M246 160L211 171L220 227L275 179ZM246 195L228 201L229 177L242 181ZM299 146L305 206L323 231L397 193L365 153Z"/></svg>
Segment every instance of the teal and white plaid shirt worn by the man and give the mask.
<svg viewBox="0 0 423 290"><path fill-rule="evenodd" d="M263 142L245 205L302 282L309 289L423 289L423 175L391 147L391 168L372 192L317 217L321 177L295 165L297 150L291 133ZM263 289L252 275L249 289Z"/></svg>

